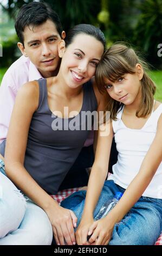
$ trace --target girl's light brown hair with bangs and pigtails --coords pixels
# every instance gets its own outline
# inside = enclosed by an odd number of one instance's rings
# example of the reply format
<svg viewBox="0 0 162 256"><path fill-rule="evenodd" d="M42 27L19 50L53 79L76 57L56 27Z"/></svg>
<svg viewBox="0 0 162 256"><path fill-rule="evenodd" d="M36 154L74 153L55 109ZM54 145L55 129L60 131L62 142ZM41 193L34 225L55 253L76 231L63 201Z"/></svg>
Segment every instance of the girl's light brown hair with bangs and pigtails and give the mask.
<svg viewBox="0 0 162 256"><path fill-rule="evenodd" d="M96 83L101 93L105 93L104 78L115 82L125 74L135 74L135 65L139 63L144 69L144 76L141 79L141 102L136 112L137 117L146 117L152 112L153 95L155 94L155 84L148 76L148 65L141 59L133 48L125 44L116 43L108 48L103 54L96 69ZM115 101L108 95L106 110L110 111L110 118L116 120L116 114L124 104Z"/></svg>

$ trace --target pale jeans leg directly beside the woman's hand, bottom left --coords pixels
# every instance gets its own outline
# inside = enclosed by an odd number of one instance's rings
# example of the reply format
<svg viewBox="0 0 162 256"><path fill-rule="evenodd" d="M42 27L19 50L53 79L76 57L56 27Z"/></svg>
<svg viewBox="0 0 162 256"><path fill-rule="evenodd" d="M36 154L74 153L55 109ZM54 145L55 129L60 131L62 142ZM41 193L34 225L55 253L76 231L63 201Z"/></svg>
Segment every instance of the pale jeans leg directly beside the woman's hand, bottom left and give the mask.
<svg viewBox="0 0 162 256"><path fill-rule="evenodd" d="M20 227L0 239L0 245L51 245L52 239L53 230L46 212L29 199Z"/></svg>

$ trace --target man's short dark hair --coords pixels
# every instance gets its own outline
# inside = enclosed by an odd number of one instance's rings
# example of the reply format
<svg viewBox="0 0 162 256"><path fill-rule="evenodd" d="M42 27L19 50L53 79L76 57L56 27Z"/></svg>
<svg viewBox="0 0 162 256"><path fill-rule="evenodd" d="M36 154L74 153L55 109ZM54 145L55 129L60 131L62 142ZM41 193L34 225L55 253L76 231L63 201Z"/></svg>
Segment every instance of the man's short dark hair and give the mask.
<svg viewBox="0 0 162 256"><path fill-rule="evenodd" d="M20 42L24 43L23 32L25 27L33 26L34 28L42 25L47 20L51 20L55 24L57 32L61 36L62 25L59 15L47 3L33 2L24 4L15 22L15 29Z"/></svg>

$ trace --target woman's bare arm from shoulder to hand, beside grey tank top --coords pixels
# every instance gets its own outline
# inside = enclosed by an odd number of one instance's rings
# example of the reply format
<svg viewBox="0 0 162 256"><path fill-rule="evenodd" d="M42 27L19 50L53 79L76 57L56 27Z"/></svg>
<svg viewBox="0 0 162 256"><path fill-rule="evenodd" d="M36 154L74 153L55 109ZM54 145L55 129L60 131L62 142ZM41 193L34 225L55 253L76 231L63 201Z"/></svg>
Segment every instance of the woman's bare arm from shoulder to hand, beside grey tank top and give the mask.
<svg viewBox="0 0 162 256"><path fill-rule="evenodd" d="M46 211L57 243L68 245L75 242L76 222L73 212L61 208L30 176L24 168L30 122L38 108L39 90L37 82L29 82L19 90L12 112L5 150L5 170L9 178L37 205ZM41 220L40 220L41 221Z"/></svg>

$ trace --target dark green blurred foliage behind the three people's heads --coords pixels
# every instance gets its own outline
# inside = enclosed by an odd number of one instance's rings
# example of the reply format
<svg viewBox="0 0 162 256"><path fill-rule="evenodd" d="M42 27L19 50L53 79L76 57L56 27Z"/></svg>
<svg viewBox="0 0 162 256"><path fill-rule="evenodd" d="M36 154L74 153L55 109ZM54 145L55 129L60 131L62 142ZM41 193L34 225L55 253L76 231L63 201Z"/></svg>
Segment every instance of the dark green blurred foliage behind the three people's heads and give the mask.
<svg viewBox="0 0 162 256"><path fill-rule="evenodd" d="M17 38L10 35L10 25L12 24L13 30L19 8L34 0L7 0L7 5L1 2L2 15L8 14L10 19L5 21L0 18L0 42L5 53L0 67L8 66L17 57ZM59 14L65 31L79 23L92 23L105 33L108 46L114 41L127 41L143 52L153 68L162 69L162 57L157 55L158 44L162 43L162 0L46 0L44 2L49 3ZM15 48L12 48L12 45Z"/></svg>

